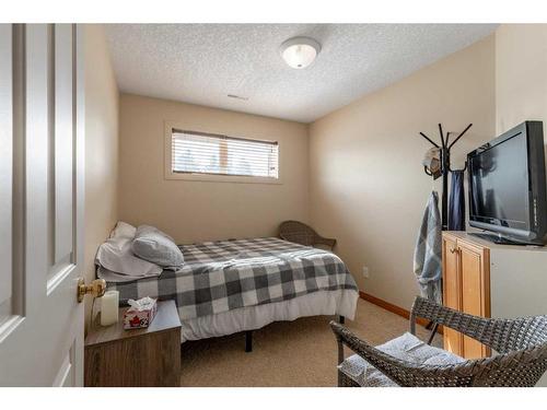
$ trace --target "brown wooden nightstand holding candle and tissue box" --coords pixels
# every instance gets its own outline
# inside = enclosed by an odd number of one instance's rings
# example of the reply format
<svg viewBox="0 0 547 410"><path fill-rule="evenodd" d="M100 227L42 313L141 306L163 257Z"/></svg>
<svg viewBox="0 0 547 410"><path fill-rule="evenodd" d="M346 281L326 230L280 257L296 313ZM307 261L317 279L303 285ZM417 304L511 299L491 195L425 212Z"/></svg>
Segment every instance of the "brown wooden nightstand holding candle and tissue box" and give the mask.
<svg viewBox="0 0 547 410"><path fill-rule="evenodd" d="M179 386L181 320L174 301L159 302L148 328L125 330L119 321L85 338L84 385L90 387ZM98 319L98 318L97 318Z"/></svg>

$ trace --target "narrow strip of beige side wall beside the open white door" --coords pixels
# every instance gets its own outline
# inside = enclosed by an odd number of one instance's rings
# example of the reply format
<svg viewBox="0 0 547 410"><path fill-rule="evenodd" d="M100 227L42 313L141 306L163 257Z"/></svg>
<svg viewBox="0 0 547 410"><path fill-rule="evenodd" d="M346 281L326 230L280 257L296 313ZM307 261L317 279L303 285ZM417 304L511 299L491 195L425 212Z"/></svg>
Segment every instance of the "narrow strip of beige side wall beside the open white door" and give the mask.
<svg viewBox="0 0 547 410"><path fill-rule="evenodd" d="M118 89L104 30L85 26L85 263L86 281L95 279L98 245L117 220ZM91 300L86 298L85 319Z"/></svg>

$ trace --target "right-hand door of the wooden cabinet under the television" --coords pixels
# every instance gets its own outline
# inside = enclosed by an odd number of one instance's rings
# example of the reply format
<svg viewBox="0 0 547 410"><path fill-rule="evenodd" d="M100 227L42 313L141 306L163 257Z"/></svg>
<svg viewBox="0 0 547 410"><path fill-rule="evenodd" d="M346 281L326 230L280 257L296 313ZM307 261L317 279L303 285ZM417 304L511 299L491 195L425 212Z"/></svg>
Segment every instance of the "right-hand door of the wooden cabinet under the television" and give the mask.
<svg viewBox="0 0 547 410"><path fill-rule="evenodd" d="M462 272L462 311L475 316L490 316L489 251L486 248L458 242ZM465 359L485 358L490 354L482 343L463 337Z"/></svg>

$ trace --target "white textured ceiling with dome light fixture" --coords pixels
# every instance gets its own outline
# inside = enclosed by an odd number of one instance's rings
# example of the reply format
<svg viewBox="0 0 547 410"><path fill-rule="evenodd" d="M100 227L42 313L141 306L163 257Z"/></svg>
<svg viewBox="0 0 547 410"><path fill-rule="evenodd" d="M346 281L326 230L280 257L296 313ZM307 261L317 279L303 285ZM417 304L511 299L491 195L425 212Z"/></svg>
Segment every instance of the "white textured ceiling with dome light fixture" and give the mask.
<svg viewBox="0 0 547 410"><path fill-rule="evenodd" d="M310 122L487 36L494 24L113 24L121 92ZM305 35L304 70L279 56ZM247 101L228 97L235 94Z"/></svg>

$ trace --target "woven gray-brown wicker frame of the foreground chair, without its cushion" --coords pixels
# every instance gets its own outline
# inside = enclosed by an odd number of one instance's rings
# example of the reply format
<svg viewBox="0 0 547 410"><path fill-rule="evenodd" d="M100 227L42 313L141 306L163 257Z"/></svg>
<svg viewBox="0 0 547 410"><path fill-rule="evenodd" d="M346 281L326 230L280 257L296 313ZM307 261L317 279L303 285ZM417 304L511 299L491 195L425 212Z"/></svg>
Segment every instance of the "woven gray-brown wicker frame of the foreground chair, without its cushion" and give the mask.
<svg viewBox="0 0 547 410"><path fill-rule="evenodd" d="M458 330L498 354L454 365L417 365L381 352L331 321L338 341L338 363L345 360L344 345L347 345L397 385L411 387L532 387L547 370L547 316L487 319L417 297L410 315L412 335L416 317ZM359 385L338 371L338 386Z"/></svg>

